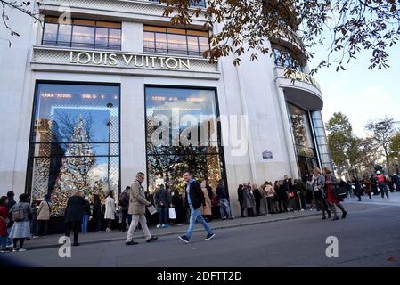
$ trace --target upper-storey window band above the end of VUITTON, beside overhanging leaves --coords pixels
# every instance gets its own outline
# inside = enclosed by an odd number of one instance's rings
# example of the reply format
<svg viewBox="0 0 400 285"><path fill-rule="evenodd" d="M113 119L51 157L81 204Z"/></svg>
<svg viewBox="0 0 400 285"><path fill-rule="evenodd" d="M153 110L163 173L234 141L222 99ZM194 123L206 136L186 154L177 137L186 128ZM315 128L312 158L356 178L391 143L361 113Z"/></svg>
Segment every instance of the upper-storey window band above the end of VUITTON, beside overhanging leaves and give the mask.
<svg viewBox="0 0 400 285"><path fill-rule="evenodd" d="M208 32L143 26L144 52L202 56L208 49Z"/></svg>

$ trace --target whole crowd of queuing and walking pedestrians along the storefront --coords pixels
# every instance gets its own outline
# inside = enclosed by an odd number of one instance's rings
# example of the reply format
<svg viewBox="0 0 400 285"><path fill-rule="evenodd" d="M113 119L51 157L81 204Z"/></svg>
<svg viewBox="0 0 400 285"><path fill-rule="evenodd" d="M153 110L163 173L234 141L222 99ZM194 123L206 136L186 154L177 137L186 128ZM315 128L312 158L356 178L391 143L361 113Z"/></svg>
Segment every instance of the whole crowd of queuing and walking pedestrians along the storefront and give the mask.
<svg viewBox="0 0 400 285"><path fill-rule="evenodd" d="M88 232L89 221L94 232L111 232L119 228L127 232L127 245L134 245L134 232L142 228L148 242L157 240L151 236L147 227L146 208L152 215L158 213L158 228L169 228L171 224L189 224L188 231L179 237L184 242L192 238L196 221L208 232L206 240L215 234L208 222L215 218L222 220L234 219L231 211L229 191L220 180L216 191L208 184L207 179L197 182L192 174L183 176L186 183L184 195L180 191L168 191L163 183L158 189L148 195L142 186L144 174L138 173L135 182L127 186L118 196L109 191L102 203L99 195L94 194L92 202L81 191L69 198L65 208L65 236L74 232L72 244L78 246L78 234ZM378 170L374 175L358 179L353 176L347 182L338 180L330 169L314 168L313 174L292 180L284 175L282 180L274 183L265 181L257 187L255 183L240 183L237 194L241 207L241 217L260 216L262 214L278 214L293 211L321 210L322 219L339 220L337 208L346 218L347 211L341 202L343 199L357 198L364 195L372 199L372 195L389 198L388 192L400 191L400 175L385 175ZM46 194L41 201L29 203L29 196L21 194L19 201L14 199L13 191L0 198L0 250L25 251L24 242L46 236L52 216L51 195ZM263 207L262 207L263 206ZM263 208L263 210L261 210Z"/></svg>

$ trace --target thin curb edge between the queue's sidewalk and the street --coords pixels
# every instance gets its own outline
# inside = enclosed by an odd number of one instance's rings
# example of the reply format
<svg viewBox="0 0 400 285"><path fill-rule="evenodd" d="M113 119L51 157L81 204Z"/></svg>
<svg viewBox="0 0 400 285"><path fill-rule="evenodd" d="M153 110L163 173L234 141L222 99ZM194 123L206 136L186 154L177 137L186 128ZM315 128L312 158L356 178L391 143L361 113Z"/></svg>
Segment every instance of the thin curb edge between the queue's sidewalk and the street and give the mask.
<svg viewBox="0 0 400 285"><path fill-rule="evenodd" d="M237 228L241 226L248 226L248 225L255 225L255 224L269 224L269 223L275 223L275 222L282 222L282 221L290 221L290 220L298 220L310 216L320 216L321 213L314 213L314 214L309 214L309 215L303 215L303 216L286 216L282 218L275 218L271 220L261 220L261 221L255 221L255 222L246 222L246 223L240 223L240 224L226 224L226 225L219 225L212 227L213 230L222 230L222 229L228 229L228 228ZM193 232L201 232L203 229L194 229ZM174 231L174 232L162 232L159 233L157 236L158 237L163 237L163 236L169 236L169 235L178 235L185 233L186 230L184 231ZM144 239L143 235L138 235L134 236L135 240L138 239ZM110 238L110 239L102 239L102 240L88 240L88 241L81 241L79 244L82 245L90 245L90 244L96 244L96 243L103 243L103 242L113 242L113 241L120 241L120 240L126 240L125 237L118 237L118 238ZM37 249L48 249L48 248L59 248L61 245L56 243L56 244L47 244L47 245L37 245L33 247L27 247L27 249L30 250L37 250Z"/></svg>

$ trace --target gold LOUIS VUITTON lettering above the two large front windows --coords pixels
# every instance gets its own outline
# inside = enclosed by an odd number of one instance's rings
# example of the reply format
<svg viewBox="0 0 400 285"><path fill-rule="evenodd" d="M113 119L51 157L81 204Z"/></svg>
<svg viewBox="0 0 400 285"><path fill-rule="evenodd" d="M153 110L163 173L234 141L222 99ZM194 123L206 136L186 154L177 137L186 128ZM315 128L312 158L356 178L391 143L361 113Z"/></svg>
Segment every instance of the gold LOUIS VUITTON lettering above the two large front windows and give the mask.
<svg viewBox="0 0 400 285"><path fill-rule="evenodd" d="M70 52L69 63L141 69L191 69L190 59L130 53Z"/></svg>

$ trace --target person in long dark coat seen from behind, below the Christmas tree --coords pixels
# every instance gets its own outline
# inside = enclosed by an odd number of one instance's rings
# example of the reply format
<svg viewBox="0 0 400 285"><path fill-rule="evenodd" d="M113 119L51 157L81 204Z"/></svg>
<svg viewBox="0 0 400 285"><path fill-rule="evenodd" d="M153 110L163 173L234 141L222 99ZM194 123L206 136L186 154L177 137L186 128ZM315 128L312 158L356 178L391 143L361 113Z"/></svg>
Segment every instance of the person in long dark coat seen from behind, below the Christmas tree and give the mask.
<svg viewBox="0 0 400 285"><path fill-rule="evenodd" d="M71 231L74 231L74 246L78 246L78 235L80 232L80 226L85 211L85 199L82 192L77 191L67 202L67 208L65 209L65 236L69 237Z"/></svg>

